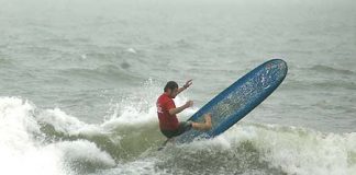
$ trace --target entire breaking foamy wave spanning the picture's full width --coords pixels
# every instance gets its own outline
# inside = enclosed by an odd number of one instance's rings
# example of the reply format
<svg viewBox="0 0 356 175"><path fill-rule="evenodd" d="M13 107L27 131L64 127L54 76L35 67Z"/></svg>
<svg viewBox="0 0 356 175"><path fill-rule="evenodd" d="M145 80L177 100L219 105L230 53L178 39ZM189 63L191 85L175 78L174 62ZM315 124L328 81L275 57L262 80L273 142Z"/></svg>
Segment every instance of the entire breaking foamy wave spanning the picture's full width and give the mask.
<svg viewBox="0 0 356 175"><path fill-rule="evenodd" d="M185 101L176 100L178 105ZM325 133L291 126L238 122L214 139L168 145L157 152L165 138L158 130L155 106L147 104L114 105L101 124L86 124L59 108L41 109L19 97L0 97L0 163L4 167L0 173L356 172L355 132ZM194 112L197 108L185 112L182 119Z"/></svg>

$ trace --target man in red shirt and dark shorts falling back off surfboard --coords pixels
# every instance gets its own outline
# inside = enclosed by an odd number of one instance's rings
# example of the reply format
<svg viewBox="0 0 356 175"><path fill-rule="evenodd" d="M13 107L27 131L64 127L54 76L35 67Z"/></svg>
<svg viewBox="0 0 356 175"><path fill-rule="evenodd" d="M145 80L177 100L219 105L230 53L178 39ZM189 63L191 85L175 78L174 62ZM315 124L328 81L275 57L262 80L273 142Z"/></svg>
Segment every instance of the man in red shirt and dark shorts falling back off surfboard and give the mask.
<svg viewBox="0 0 356 175"><path fill-rule="evenodd" d="M159 119L159 128L163 135L168 139L179 136L191 128L197 130L211 129L211 115L204 116L204 122L183 121L178 122L176 114L189 108L193 105L192 101L188 101L185 105L176 107L175 98L179 93L188 89L192 84L192 80L186 82L182 88L178 88L178 84L174 81L167 82L164 93L157 100L157 114Z"/></svg>

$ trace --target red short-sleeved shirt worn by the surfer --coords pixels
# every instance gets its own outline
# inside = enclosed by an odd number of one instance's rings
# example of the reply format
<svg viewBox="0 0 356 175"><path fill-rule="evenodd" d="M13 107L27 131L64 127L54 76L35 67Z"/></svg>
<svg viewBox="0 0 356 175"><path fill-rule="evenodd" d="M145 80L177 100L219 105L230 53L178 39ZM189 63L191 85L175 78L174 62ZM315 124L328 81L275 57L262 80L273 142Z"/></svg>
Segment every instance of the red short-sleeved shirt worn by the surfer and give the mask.
<svg viewBox="0 0 356 175"><path fill-rule="evenodd" d="M179 122L176 115L170 115L169 109L176 108L175 102L167 95L162 94L156 103L159 119L159 128L162 130L176 130Z"/></svg>

